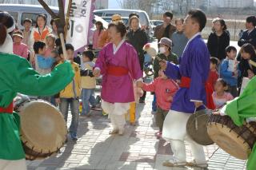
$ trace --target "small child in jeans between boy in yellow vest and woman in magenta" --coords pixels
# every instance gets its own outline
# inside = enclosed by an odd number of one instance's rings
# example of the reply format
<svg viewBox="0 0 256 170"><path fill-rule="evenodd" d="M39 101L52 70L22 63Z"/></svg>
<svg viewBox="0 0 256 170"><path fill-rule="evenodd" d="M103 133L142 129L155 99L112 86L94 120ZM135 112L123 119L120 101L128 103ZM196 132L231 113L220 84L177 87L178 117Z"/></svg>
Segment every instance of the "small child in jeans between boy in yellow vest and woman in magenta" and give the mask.
<svg viewBox="0 0 256 170"><path fill-rule="evenodd" d="M93 70L95 54L91 50L86 50L82 53L82 61L86 69ZM90 105L92 108L96 107L96 100L94 97L94 89L96 88L95 77L82 77L82 113L81 116L90 116Z"/></svg>

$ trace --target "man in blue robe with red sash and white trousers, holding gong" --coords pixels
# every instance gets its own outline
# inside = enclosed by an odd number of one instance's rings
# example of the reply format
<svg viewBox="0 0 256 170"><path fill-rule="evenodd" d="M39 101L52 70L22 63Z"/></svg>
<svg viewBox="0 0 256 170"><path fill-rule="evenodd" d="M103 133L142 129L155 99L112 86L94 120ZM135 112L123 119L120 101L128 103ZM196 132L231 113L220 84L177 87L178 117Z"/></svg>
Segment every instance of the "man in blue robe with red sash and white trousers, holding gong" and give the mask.
<svg viewBox="0 0 256 170"><path fill-rule="evenodd" d="M211 93L206 93L210 54L200 34L205 26L206 14L202 10L190 10L184 22L184 34L190 40L184 49L179 67L171 62L160 62L162 69L166 69L167 77L181 80L181 88L175 94L170 112L163 124L162 137L170 142L174 152L174 159L164 162L164 166L207 166L202 145L191 140L186 132L186 122L191 113L196 109L205 109L202 105L206 105L206 101L210 101L207 102L211 104L208 105L209 108L214 107ZM207 97L209 100L206 100ZM186 162L184 140L189 142L192 149L194 161L191 163Z"/></svg>

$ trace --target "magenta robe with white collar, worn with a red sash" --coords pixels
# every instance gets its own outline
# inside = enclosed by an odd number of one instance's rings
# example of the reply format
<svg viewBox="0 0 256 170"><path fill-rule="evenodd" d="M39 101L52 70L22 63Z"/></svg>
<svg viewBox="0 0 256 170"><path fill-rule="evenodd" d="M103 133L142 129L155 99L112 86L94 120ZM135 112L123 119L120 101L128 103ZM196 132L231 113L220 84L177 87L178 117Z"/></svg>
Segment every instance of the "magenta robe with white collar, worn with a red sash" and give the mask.
<svg viewBox="0 0 256 170"><path fill-rule="evenodd" d="M127 74L114 76L106 73L108 65L128 69ZM102 100L109 103L129 103L134 101L133 81L142 78L138 54L134 47L124 40L116 47L107 44L99 53L95 69L102 74Z"/></svg>

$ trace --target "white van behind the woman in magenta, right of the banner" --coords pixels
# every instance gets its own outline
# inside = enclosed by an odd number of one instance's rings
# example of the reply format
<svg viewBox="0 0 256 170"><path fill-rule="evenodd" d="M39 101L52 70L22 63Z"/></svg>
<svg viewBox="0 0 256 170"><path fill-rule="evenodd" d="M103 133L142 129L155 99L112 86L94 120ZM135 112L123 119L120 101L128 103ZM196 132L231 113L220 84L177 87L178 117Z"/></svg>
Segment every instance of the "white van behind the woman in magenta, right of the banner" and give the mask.
<svg viewBox="0 0 256 170"><path fill-rule="evenodd" d="M146 33L151 38L152 26L150 18L145 10L123 10L123 9L106 9L106 10L94 10L94 14L99 17L111 17L114 14L120 14L122 17L129 17L131 13L136 13L139 16L141 26L146 26Z"/></svg>

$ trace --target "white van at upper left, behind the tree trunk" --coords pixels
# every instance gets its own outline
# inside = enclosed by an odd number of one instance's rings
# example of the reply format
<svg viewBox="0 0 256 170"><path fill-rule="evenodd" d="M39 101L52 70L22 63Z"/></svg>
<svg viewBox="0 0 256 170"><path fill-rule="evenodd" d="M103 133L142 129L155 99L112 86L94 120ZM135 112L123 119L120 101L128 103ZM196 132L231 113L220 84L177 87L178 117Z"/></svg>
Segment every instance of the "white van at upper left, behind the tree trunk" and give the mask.
<svg viewBox="0 0 256 170"><path fill-rule="evenodd" d="M58 7L50 6L54 13L58 13ZM27 4L0 4L0 11L7 11L11 14L17 22L18 29L23 29L23 21L26 18L32 19L33 26L36 24L38 14L45 14L47 18L47 25L50 26L51 16L46 12L42 6L27 5Z"/></svg>

